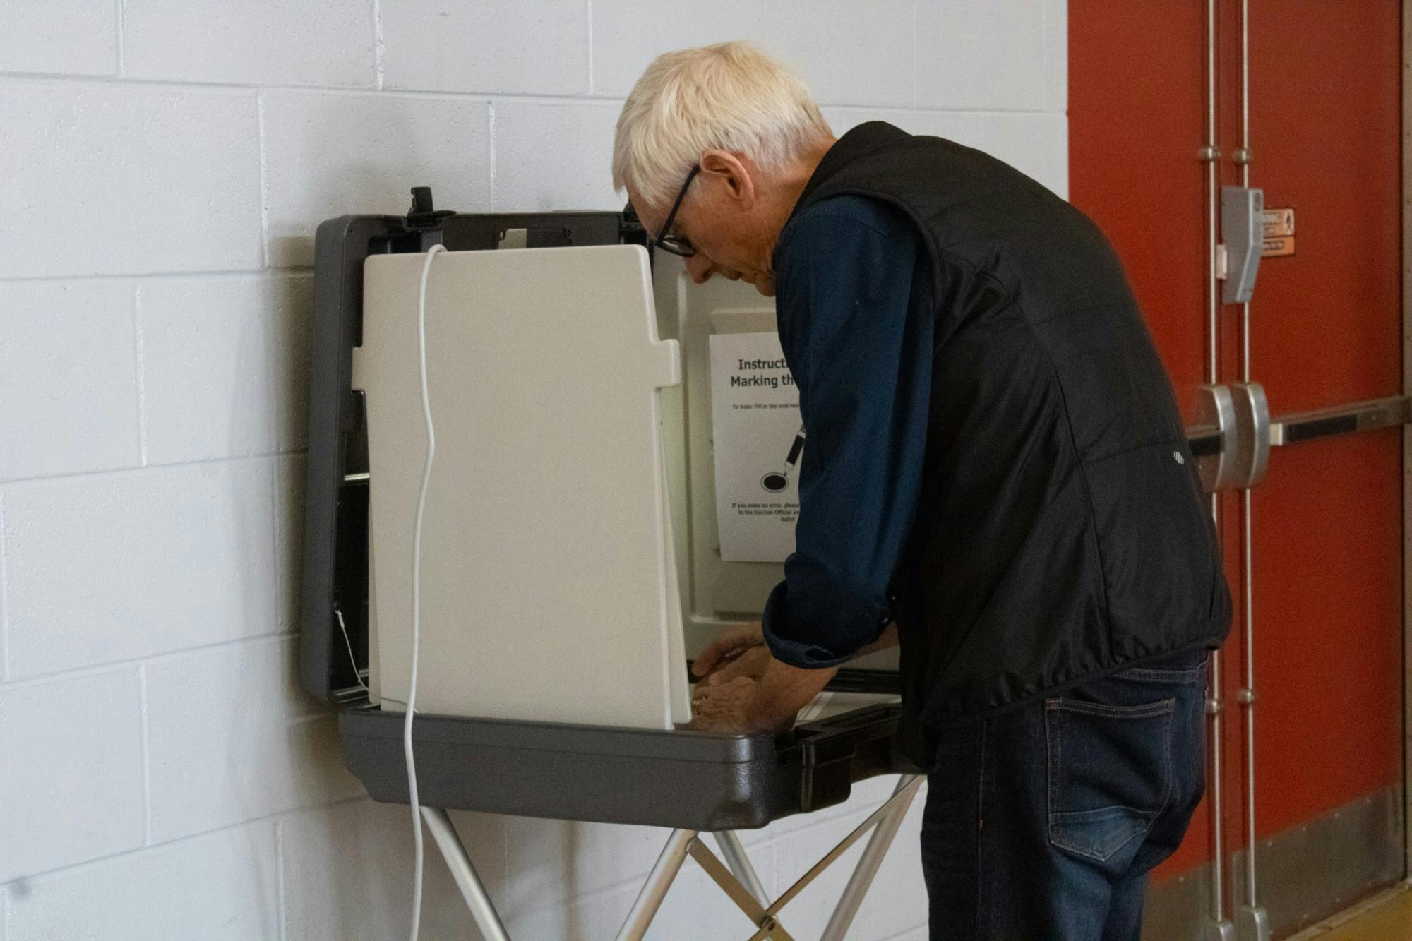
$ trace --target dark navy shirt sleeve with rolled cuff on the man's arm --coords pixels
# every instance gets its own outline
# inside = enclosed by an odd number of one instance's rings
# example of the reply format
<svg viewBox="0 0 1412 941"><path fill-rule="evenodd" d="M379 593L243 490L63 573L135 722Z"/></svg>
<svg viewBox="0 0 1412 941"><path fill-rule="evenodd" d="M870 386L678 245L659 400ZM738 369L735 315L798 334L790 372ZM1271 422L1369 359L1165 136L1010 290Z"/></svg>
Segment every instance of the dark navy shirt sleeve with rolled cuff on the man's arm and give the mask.
<svg viewBox="0 0 1412 941"><path fill-rule="evenodd" d="M795 551L762 623L770 650L795 667L847 660L891 617L926 445L925 257L899 211L863 196L810 206L775 250L779 339L806 438Z"/></svg>

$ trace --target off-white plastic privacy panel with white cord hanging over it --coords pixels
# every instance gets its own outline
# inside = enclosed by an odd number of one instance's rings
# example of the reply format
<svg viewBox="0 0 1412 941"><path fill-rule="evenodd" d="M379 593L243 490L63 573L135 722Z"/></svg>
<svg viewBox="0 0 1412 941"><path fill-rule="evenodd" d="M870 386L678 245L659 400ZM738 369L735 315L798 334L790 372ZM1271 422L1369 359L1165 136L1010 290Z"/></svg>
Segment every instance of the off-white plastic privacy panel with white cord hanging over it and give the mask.
<svg viewBox="0 0 1412 941"><path fill-rule="evenodd" d="M426 449L425 254L364 267L377 684L407 698ZM426 287L436 459L418 711L672 728L689 719L659 389L679 381L637 246L448 251ZM400 708L400 706L398 706Z"/></svg>

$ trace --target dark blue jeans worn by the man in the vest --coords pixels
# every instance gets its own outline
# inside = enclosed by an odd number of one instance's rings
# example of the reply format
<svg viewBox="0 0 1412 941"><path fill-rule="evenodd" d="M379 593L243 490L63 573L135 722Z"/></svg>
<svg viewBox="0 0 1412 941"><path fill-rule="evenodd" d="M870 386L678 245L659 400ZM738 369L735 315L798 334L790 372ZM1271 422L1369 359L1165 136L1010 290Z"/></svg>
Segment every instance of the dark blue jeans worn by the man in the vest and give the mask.
<svg viewBox="0 0 1412 941"><path fill-rule="evenodd" d="M935 733L932 941L1138 941L1204 790L1206 651Z"/></svg>

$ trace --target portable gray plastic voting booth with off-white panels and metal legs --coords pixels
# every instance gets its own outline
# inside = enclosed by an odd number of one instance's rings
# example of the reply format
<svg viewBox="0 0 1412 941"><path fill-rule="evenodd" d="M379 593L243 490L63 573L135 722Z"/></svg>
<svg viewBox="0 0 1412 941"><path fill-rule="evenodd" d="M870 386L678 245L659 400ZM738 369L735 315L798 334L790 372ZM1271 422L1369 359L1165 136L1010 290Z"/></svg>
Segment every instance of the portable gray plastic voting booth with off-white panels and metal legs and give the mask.
<svg viewBox="0 0 1412 941"><path fill-rule="evenodd" d="M779 578L723 560L712 455L709 338L772 331L768 302L692 285L676 259L654 271L630 213L449 213L414 195L407 216L329 219L315 243L299 670L337 711L345 760L374 800L408 801L418 292L441 244L412 735L424 819L477 924L508 937L446 810L671 828L620 938L644 935L686 855L753 937L788 938L781 909L870 835L823 935L842 938L922 780L894 742L895 670L842 671L784 735L679 728L690 653L758 616ZM764 466L784 478L799 446ZM770 900L733 831L878 774L901 776L894 797Z"/></svg>

